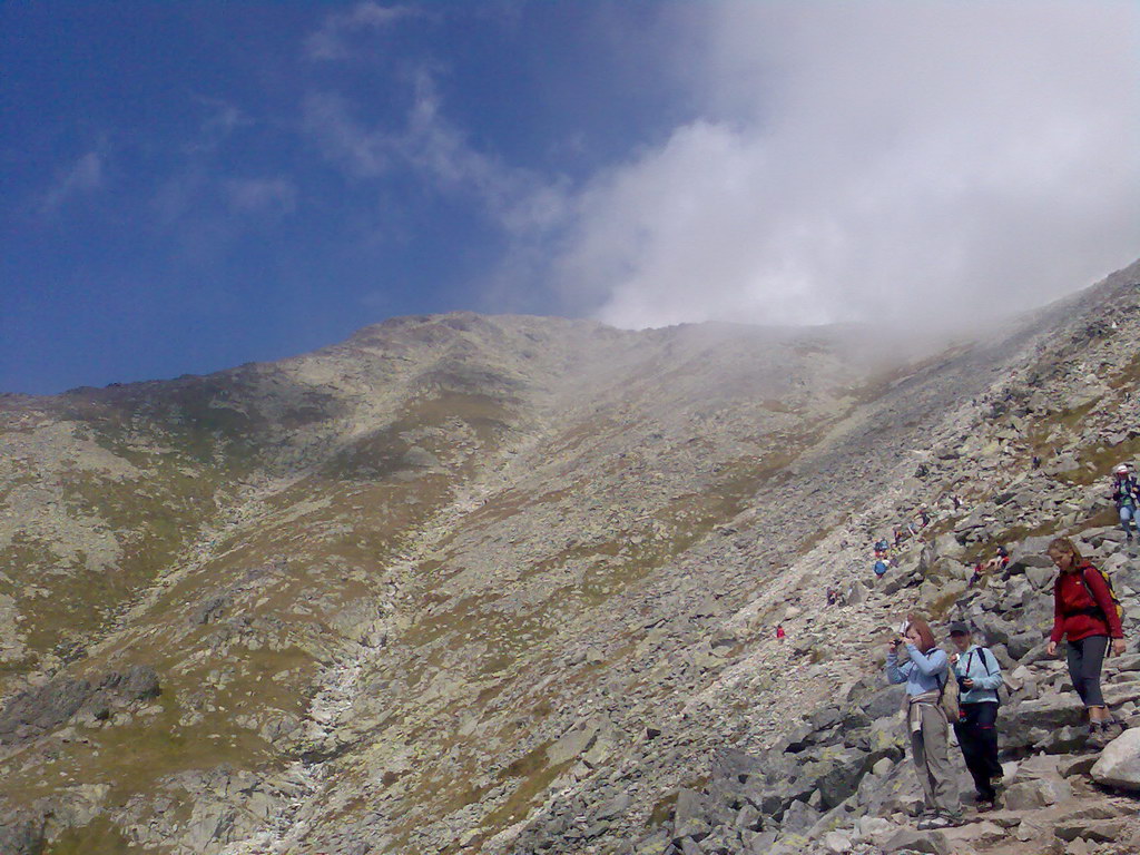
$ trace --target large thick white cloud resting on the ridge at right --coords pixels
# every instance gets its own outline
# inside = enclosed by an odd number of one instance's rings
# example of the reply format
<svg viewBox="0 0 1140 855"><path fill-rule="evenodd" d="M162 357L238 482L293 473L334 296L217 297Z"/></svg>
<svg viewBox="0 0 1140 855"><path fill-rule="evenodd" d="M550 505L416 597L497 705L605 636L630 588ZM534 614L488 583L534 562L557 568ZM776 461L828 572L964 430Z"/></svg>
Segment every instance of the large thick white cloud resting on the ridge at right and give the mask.
<svg viewBox="0 0 1140 855"><path fill-rule="evenodd" d="M1140 254L1140 7L685 14L699 115L575 196L571 303L632 327L961 321Z"/></svg>

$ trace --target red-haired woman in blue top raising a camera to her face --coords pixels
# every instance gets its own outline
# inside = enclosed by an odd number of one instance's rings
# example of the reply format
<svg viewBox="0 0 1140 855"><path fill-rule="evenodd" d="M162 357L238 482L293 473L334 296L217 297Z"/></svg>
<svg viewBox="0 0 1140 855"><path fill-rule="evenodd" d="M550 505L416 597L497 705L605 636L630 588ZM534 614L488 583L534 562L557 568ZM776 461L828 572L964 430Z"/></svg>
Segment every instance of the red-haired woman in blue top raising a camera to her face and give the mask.
<svg viewBox="0 0 1140 855"><path fill-rule="evenodd" d="M906 731L911 758L922 785L925 808L920 829L944 829L962 823L958 783L950 766L950 728L943 700L947 683L956 705L956 684L946 652L935 644L922 618L911 616L887 651L887 679L906 684Z"/></svg>

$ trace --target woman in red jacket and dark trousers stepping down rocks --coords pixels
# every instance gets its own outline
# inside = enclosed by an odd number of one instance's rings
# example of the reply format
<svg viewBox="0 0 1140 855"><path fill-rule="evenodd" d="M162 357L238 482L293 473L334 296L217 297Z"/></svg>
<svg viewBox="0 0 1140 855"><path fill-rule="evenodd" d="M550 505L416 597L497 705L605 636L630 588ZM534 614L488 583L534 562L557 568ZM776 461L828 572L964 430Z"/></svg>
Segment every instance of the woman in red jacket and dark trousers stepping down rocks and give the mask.
<svg viewBox="0 0 1140 855"><path fill-rule="evenodd" d="M1081 557L1073 542L1059 537L1049 544L1049 557L1060 569L1053 583L1053 632L1045 652L1053 656L1061 638L1068 642L1069 676L1089 710L1089 739L1105 743L1114 735L1100 692L1100 669L1112 636L1113 653L1124 653L1124 630L1105 577Z"/></svg>

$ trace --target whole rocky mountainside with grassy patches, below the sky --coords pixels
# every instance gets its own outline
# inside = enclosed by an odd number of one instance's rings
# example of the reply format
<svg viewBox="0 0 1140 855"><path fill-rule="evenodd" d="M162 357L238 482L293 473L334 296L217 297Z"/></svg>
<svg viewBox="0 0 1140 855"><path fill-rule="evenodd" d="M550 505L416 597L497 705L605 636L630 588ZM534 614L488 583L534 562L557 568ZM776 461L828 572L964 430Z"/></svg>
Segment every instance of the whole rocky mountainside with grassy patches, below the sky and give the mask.
<svg viewBox="0 0 1140 855"><path fill-rule="evenodd" d="M1140 450L1138 283L914 358L857 329L450 315L0 397L0 841L882 846L913 793L876 657L909 608L1004 645L1011 759L1076 747L1041 538L1084 532L1135 593L1102 475ZM869 591L869 543L920 503L936 522ZM967 593L997 543L1024 559ZM1090 764L1050 763L1017 774L1116 821ZM1010 837L987 833L929 845Z"/></svg>

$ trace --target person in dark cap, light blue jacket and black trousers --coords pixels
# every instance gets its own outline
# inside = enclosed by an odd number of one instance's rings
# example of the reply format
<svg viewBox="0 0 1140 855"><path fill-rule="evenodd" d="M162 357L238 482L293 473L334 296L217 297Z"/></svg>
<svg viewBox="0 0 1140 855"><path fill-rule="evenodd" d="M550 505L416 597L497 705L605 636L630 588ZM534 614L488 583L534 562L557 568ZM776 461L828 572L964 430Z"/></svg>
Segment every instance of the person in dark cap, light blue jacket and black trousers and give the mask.
<svg viewBox="0 0 1140 855"><path fill-rule="evenodd" d="M958 648L950 663L958 679L960 712L953 723L966 767L976 790L978 811L996 806L1002 768L997 762L997 690L1002 685L1001 665L987 649L974 643L970 627L950 625L950 640Z"/></svg>

